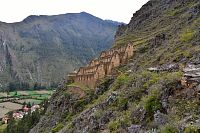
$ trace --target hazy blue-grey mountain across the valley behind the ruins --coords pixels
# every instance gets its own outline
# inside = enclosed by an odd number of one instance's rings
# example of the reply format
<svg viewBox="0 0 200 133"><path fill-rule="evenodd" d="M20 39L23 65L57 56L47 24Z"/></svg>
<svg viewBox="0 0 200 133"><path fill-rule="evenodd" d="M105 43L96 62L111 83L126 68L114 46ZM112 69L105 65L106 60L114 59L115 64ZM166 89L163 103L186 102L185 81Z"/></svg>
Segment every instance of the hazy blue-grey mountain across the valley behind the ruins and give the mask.
<svg viewBox="0 0 200 133"><path fill-rule="evenodd" d="M119 24L86 12L0 22L0 83L58 82L109 48Z"/></svg>

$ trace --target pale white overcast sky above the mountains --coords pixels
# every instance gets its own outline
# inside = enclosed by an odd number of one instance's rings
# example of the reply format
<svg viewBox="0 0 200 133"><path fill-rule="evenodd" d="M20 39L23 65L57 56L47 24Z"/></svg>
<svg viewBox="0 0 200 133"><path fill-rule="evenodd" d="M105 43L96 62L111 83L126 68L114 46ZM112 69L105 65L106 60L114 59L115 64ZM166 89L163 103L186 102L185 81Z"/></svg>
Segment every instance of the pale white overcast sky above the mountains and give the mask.
<svg viewBox="0 0 200 133"><path fill-rule="evenodd" d="M22 21L29 15L58 15L85 11L102 19L128 23L148 0L0 0L0 21Z"/></svg>

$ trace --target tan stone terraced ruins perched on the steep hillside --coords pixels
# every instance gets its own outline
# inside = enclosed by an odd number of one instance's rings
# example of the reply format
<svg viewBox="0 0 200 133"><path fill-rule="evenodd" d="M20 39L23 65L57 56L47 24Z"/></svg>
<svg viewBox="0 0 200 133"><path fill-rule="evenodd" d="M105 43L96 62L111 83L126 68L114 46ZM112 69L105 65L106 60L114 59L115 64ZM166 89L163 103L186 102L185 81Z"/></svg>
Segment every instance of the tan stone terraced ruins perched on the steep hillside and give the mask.
<svg viewBox="0 0 200 133"><path fill-rule="evenodd" d="M99 58L92 60L86 67L81 67L77 72L70 73L68 79L80 85L94 88L97 81L110 75L113 68L126 63L133 54L134 47L131 43L125 47L103 51Z"/></svg>

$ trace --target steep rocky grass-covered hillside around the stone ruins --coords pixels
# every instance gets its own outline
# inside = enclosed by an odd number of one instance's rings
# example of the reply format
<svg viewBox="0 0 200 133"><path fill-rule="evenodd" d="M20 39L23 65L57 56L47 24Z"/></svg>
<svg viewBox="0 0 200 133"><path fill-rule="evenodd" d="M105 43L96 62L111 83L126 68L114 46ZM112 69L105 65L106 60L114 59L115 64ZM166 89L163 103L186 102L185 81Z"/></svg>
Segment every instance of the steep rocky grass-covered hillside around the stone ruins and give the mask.
<svg viewBox="0 0 200 133"><path fill-rule="evenodd" d="M63 83L30 132L198 133L199 27L199 0L150 0L116 33L129 63L95 90Z"/></svg>

